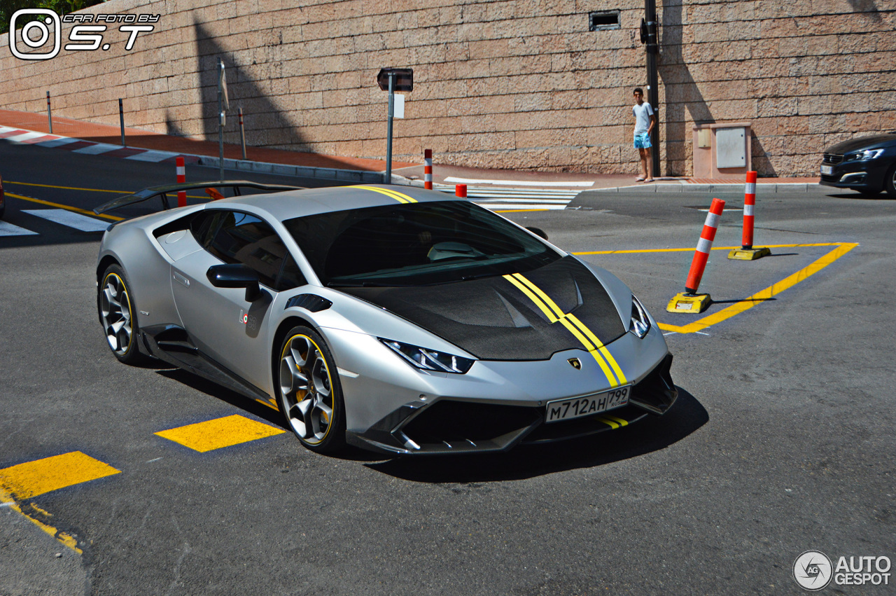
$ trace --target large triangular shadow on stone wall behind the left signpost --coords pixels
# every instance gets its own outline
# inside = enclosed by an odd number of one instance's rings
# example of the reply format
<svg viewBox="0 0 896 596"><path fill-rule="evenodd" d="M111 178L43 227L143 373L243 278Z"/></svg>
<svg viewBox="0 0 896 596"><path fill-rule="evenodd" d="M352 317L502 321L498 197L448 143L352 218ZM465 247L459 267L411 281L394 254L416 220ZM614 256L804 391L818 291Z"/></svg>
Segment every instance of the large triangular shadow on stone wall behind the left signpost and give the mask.
<svg viewBox="0 0 896 596"><path fill-rule="evenodd" d="M230 108L224 127L224 142L239 143L237 108L243 108L246 145L254 147L305 146L297 128L280 112L245 70L234 64L233 56L211 36L202 22L194 21L196 61L202 98L202 137L218 140L218 58L224 61ZM168 118L168 134L183 135Z"/></svg>

